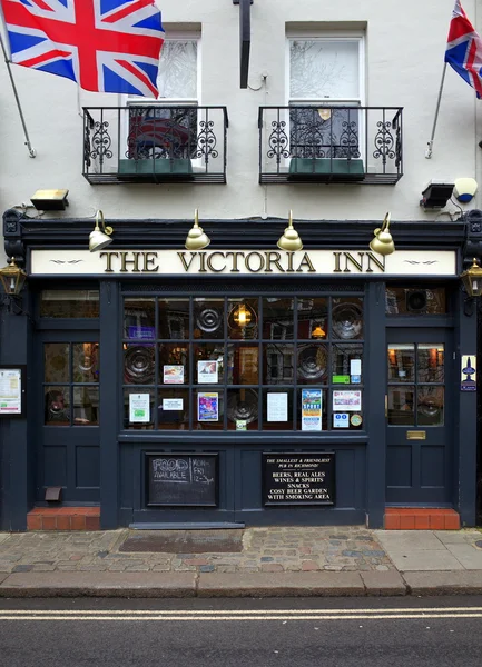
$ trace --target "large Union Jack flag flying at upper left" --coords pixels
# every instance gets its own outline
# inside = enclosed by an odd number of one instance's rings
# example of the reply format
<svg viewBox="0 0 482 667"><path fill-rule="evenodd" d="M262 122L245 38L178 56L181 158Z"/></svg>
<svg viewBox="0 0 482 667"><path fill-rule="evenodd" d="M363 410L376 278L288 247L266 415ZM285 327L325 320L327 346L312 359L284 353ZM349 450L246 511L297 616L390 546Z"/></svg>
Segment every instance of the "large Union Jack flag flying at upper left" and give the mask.
<svg viewBox="0 0 482 667"><path fill-rule="evenodd" d="M0 0L11 61L94 92L158 97L154 0Z"/></svg>

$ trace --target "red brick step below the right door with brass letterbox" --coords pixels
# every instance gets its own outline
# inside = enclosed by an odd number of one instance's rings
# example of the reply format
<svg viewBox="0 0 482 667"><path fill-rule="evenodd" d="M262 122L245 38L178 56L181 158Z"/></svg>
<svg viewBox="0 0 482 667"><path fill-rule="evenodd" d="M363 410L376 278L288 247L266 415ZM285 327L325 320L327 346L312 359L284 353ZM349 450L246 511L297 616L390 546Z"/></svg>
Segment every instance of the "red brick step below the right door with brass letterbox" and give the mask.
<svg viewBox="0 0 482 667"><path fill-rule="evenodd" d="M460 516L436 507L386 507L385 530L460 530Z"/></svg>

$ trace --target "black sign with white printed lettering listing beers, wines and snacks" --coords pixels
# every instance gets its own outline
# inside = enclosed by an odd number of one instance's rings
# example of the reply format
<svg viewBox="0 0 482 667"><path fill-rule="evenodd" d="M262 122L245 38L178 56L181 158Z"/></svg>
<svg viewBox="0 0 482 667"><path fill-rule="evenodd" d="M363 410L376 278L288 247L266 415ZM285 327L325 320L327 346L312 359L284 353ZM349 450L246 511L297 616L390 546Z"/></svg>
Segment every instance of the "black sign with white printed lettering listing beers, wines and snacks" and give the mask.
<svg viewBox="0 0 482 667"><path fill-rule="evenodd" d="M334 505L335 454L263 454L265 505Z"/></svg>

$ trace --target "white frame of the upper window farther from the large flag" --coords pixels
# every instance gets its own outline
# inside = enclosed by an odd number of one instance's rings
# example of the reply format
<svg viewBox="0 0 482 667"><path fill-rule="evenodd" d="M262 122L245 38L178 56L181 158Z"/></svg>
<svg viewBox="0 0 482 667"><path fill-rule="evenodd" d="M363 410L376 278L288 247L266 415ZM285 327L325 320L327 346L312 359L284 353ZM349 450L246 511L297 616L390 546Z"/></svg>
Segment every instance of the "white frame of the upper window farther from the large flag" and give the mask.
<svg viewBox="0 0 482 667"><path fill-rule="evenodd" d="M329 98L329 96L325 96L323 99L321 98L292 98L291 97L291 44L293 41L319 41L319 42L338 42L338 41L350 41L356 42L358 44L358 97L355 98ZM323 106L347 106L351 107L365 107L366 106L366 87L365 87L365 78L366 78L366 64L365 64L365 33L363 31L287 31L286 32L286 48L285 48L285 106L309 106L309 104L319 104L319 108ZM366 113L366 112L364 112ZM364 113L361 116L361 119L364 118ZM289 128L289 110L286 111L286 127ZM366 165L366 156L365 156L365 123L363 121L360 122L358 129L358 150L360 158ZM285 160L285 166L288 168L291 158Z"/></svg>

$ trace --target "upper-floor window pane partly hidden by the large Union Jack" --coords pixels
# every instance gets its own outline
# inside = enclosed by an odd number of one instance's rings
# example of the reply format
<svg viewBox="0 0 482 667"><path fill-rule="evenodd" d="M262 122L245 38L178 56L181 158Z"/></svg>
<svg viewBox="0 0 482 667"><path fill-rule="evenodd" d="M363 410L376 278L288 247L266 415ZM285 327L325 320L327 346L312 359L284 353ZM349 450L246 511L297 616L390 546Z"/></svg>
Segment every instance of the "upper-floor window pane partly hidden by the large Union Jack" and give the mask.
<svg viewBox="0 0 482 667"><path fill-rule="evenodd" d="M166 40L157 77L159 98L197 99L197 41Z"/></svg>

